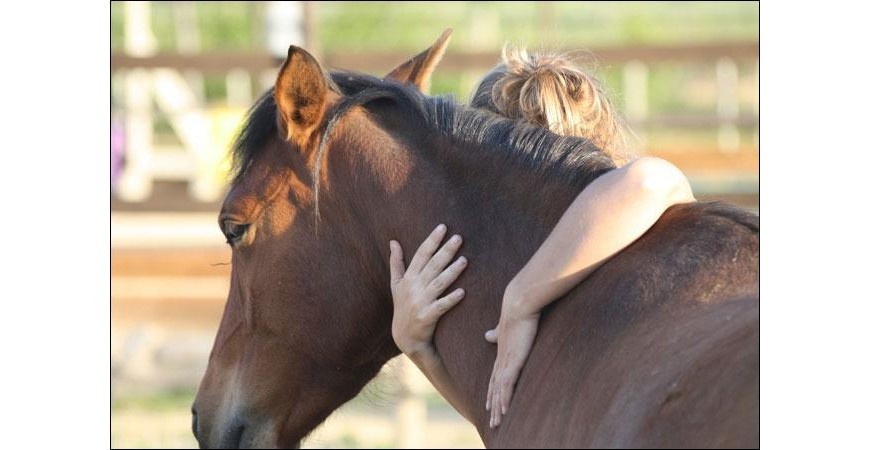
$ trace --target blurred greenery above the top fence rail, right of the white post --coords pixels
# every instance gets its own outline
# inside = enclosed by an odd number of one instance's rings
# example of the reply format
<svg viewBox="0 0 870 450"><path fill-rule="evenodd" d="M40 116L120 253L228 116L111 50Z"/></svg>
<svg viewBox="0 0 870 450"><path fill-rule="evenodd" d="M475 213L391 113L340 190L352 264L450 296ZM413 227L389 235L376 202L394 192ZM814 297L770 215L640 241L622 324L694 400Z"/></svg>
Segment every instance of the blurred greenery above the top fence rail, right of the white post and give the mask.
<svg viewBox="0 0 870 450"><path fill-rule="evenodd" d="M758 39L755 2L317 2L314 11L326 52L416 51L447 27L460 50Z"/></svg>

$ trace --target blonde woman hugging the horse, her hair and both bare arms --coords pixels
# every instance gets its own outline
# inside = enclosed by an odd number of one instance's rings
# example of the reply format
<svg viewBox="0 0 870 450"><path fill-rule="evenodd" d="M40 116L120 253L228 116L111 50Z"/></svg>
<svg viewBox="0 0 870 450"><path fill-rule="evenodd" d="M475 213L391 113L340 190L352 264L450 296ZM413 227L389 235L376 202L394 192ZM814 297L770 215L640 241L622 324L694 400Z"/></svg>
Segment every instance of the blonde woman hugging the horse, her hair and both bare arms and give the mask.
<svg viewBox="0 0 870 450"><path fill-rule="evenodd" d="M565 136L587 138L625 161L626 130L600 83L563 55L505 49L502 63L480 82L471 105L514 120L525 120ZM644 157L599 177L572 202L552 233L505 289L498 324L485 339L498 345L486 409L490 427L501 422L514 385L528 358L540 311L580 283L595 268L646 232L670 206L693 202L689 182L673 164ZM467 261L456 255L461 237L446 235L440 225L420 246L407 270L402 248L390 242L393 337L433 385L466 417L471 405L458 401L432 346L438 319L464 296L457 289L438 298Z"/></svg>

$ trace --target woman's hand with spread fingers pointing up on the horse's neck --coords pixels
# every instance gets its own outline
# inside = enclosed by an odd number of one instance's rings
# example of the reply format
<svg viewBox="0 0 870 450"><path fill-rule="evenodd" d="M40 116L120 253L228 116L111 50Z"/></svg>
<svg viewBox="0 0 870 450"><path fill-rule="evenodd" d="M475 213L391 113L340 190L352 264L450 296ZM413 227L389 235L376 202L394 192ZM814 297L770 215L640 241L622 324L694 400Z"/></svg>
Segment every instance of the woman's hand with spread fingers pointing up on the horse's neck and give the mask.
<svg viewBox="0 0 870 450"><path fill-rule="evenodd" d="M467 265L465 257L460 256L447 267L462 245L462 238L454 235L439 249L446 233L447 227L438 225L420 245L407 270L401 245L390 241L393 339L399 350L411 357L433 353L435 324L465 296L464 290L456 289L438 298Z"/></svg>

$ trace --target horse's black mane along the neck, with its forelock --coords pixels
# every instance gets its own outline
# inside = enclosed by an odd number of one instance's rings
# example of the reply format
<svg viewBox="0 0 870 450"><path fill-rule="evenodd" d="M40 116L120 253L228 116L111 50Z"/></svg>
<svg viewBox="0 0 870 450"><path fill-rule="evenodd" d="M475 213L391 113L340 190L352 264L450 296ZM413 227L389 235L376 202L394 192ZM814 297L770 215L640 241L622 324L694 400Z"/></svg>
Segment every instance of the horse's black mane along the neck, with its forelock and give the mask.
<svg viewBox="0 0 870 450"><path fill-rule="evenodd" d="M591 141L559 136L525 121L513 121L491 112L458 104L452 97L428 97L414 87L390 79L353 72L332 72L330 84L343 94L322 128L318 148L319 165L330 131L344 113L354 106L374 100L391 100L441 135L456 142L471 144L480 152L498 152L503 158L546 172L567 182L588 182L615 166L613 160ZM232 145L234 181L267 141L277 133L277 106L269 89L251 107L247 119ZM315 189L317 188L316 168Z"/></svg>

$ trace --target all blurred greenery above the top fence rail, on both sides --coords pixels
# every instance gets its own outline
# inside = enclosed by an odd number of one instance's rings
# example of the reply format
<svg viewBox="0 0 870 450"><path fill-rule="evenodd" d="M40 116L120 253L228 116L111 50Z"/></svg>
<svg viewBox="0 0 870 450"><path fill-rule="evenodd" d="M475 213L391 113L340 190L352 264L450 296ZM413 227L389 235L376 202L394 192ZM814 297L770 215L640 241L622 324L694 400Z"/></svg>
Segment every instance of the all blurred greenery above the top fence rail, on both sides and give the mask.
<svg viewBox="0 0 870 450"><path fill-rule="evenodd" d="M202 51L256 50L259 2L152 2L161 50L177 42L176 21L192 13ZM312 2L321 50L419 51L445 28L456 50L506 41L555 48L758 40L757 2ZM111 46L123 48L124 3L111 5Z"/></svg>

